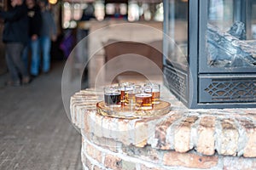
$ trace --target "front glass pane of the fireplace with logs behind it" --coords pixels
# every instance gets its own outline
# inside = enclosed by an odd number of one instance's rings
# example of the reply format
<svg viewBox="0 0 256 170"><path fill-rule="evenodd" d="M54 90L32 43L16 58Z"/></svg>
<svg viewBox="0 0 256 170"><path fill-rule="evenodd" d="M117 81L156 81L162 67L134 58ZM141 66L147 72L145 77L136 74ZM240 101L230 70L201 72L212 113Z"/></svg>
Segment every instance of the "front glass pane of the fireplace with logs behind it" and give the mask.
<svg viewBox="0 0 256 170"><path fill-rule="evenodd" d="M255 0L208 0L207 65L256 66L255 3Z"/></svg>

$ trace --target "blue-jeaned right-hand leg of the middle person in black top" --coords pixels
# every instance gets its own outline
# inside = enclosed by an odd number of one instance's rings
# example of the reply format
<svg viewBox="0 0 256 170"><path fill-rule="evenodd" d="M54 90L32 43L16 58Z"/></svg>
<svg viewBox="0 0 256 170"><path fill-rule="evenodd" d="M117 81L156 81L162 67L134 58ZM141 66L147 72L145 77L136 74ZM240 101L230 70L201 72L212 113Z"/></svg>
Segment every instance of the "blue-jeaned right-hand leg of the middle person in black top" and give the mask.
<svg viewBox="0 0 256 170"><path fill-rule="evenodd" d="M39 61L40 61L40 55L38 52L39 49L39 41L35 40L31 42L31 50L32 50L32 65L31 65L31 74L34 77L38 76L39 72Z"/></svg>

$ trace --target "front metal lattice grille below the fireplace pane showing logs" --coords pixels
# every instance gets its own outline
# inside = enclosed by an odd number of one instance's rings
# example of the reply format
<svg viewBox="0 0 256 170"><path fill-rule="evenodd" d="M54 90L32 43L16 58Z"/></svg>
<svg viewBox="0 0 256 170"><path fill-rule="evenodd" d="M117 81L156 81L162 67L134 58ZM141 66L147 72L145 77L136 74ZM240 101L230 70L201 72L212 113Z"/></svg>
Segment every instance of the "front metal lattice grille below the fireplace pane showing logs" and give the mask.
<svg viewBox="0 0 256 170"><path fill-rule="evenodd" d="M205 91L212 96L212 101L256 101L256 80L212 79Z"/></svg>

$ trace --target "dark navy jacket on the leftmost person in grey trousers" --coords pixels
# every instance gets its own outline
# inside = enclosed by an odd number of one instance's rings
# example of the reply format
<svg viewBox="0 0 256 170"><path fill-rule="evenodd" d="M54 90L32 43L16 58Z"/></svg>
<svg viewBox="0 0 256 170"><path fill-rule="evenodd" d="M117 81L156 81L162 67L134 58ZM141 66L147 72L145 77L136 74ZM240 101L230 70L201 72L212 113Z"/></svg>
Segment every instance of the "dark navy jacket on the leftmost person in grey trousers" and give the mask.
<svg viewBox="0 0 256 170"><path fill-rule="evenodd" d="M15 6L9 11L0 11L4 20L3 42L28 41L28 18L26 4Z"/></svg>

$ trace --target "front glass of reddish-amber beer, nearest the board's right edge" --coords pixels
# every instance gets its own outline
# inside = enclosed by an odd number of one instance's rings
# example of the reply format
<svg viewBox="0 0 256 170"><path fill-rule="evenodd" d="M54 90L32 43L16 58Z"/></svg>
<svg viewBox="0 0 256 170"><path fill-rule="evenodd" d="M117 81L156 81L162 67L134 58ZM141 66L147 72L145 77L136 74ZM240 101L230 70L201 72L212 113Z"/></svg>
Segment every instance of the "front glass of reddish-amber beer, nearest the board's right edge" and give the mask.
<svg viewBox="0 0 256 170"><path fill-rule="evenodd" d="M152 94L136 94L135 100L137 109L152 109Z"/></svg>

